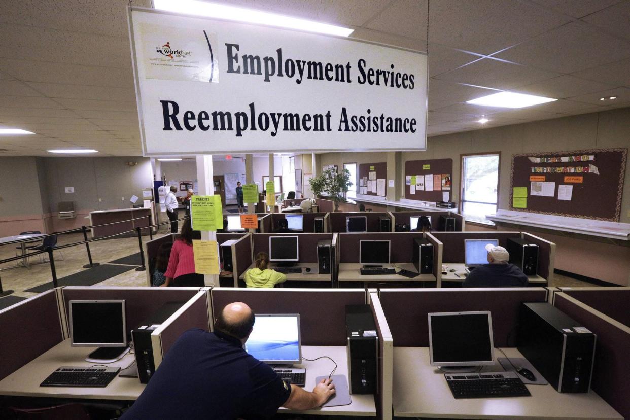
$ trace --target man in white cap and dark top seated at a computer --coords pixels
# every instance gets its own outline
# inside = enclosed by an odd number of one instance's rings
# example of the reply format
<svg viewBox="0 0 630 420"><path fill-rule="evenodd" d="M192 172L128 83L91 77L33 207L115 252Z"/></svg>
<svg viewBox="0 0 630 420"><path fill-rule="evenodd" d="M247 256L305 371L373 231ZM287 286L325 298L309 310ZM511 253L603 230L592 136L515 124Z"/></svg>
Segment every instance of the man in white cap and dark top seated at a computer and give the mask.
<svg viewBox="0 0 630 420"><path fill-rule="evenodd" d="M525 287L527 276L510 264L510 254L502 246L486 245L488 263L471 270L462 287Z"/></svg>

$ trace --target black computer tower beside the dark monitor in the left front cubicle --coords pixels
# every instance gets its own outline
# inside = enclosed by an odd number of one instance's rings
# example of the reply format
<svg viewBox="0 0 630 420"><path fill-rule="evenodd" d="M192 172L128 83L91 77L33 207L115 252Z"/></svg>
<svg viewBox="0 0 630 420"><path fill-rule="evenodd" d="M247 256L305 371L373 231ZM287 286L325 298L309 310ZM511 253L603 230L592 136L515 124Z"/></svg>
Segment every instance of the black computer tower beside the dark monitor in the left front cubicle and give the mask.
<svg viewBox="0 0 630 420"><path fill-rule="evenodd" d="M135 363L138 366L138 377L140 383L149 383L149 380L156 372L153 361L153 345L151 343L151 333L157 327L181 308L185 302L166 302L150 317L144 320L139 326L132 329L131 338L134 341Z"/></svg>

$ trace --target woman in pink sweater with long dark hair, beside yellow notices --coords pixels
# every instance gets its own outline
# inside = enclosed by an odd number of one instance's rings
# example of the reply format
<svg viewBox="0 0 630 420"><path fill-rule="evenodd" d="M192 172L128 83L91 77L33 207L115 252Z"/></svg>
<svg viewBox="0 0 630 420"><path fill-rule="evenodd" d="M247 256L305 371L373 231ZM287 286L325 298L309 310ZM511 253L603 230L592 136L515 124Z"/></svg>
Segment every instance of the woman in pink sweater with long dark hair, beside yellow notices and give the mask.
<svg viewBox="0 0 630 420"><path fill-rule="evenodd" d="M162 286L204 286L203 275L195 273L193 228L190 225L190 219L184 221L180 237L173 243L164 277L166 277L166 281Z"/></svg>

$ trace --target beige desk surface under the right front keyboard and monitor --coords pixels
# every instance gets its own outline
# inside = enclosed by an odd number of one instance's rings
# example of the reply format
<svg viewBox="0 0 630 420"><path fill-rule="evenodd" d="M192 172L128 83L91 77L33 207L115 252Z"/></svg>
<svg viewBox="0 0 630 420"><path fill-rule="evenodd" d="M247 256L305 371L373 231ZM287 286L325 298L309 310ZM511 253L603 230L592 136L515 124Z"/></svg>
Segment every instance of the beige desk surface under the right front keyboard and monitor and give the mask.
<svg viewBox="0 0 630 420"><path fill-rule="evenodd" d="M515 348L507 356L522 357ZM495 352L495 356L500 352ZM503 370L498 363L483 372ZM429 365L426 347L394 347L394 416L450 419L622 419L591 391L561 394L551 385L527 385L531 397L454 399L444 373Z"/></svg>

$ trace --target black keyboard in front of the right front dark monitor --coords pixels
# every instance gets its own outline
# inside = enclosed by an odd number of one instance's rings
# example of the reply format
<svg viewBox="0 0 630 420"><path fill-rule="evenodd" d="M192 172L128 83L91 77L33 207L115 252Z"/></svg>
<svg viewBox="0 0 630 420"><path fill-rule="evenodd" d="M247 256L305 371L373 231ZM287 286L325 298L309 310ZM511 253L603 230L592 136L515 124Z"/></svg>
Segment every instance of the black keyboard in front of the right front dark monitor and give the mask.
<svg viewBox="0 0 630 420"><path fill-rule="evenodd" d="M447 373L444 377L456 399L532 395L515 372Z"/></svg>

